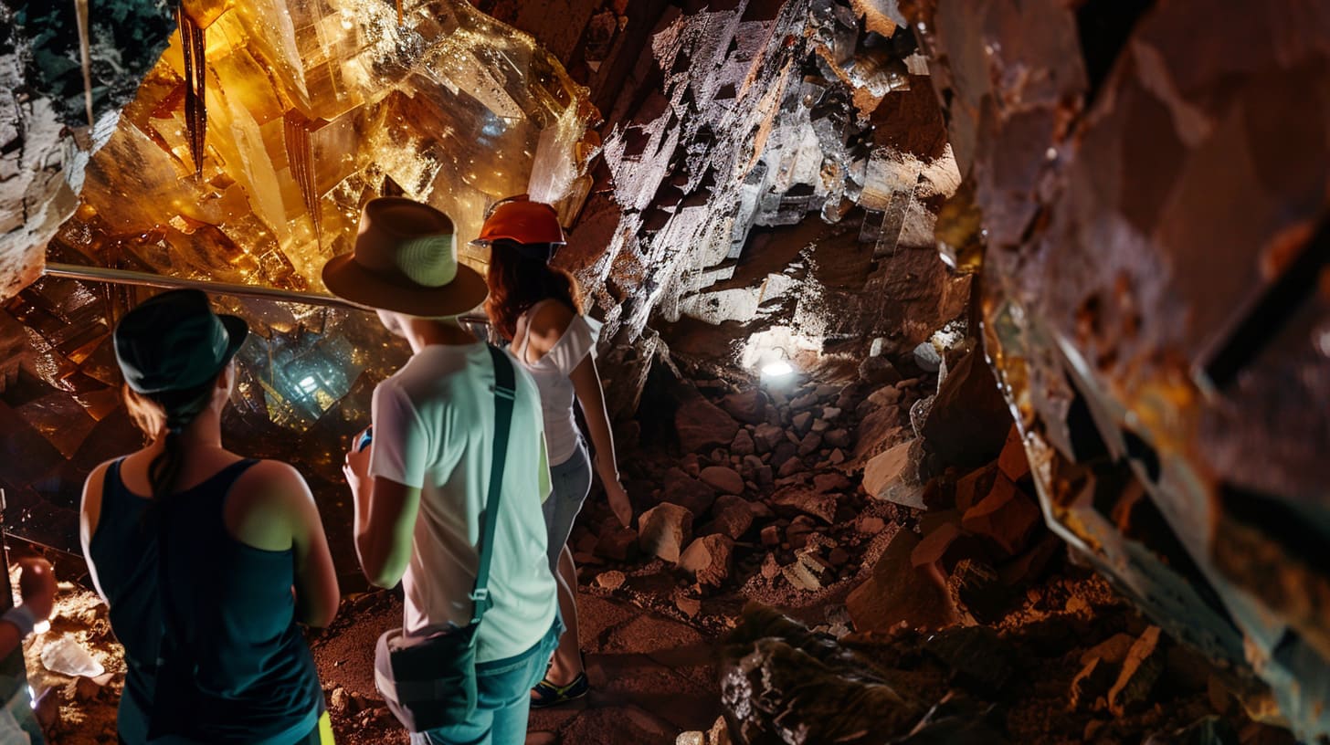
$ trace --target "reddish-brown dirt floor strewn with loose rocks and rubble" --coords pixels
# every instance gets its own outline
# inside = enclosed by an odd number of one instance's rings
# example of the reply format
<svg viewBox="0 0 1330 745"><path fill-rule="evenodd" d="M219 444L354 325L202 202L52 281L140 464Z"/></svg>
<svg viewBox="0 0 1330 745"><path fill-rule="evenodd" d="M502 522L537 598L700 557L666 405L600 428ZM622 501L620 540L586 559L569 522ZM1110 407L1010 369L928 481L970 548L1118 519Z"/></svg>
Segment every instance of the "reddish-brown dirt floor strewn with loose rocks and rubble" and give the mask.
<svg viewBox="0 0 1330 745"><path fill-rule="evenodd" d="M1068 559L1021 491L1023 462L1004 455L930 476L920 508L871 498L864 460L910 447L931 380L871 395L866 384L757 396L712 387L745 426L694 391L674 415L674 439L653 440L644 426L636 451L625 443L641 536L613 525L602 498L588 500L571 544L592 690L532 712L529 744L725 745L741 733L754 745L1293 742L1253 720L1277 722L1249 676L1161 636ZM716 423L729 430L725 443L709 439ZM656 510L665 503L689 508ZM662 515L685 515L686 525L652 524ZM676 561L690 539L706 551ZM65 557L57 573L77 577L76 564ZM73 583L57 601L51 631L27 648L39 720L53 744L114 742L125 664L106 608ZM749 604L798 625L771 624ZM351 592L331 628L310 633L338 742L407 742L372 676L378 636L400 623L396 591ZM105 673L48 670L43 651L64 636ZM900 701L871 710L826 694L864 681ZM940 737L935 725L966 737ZM1205 740L1198 725L1225 738ZM843 737L809 734L829 726Z"/></svg>

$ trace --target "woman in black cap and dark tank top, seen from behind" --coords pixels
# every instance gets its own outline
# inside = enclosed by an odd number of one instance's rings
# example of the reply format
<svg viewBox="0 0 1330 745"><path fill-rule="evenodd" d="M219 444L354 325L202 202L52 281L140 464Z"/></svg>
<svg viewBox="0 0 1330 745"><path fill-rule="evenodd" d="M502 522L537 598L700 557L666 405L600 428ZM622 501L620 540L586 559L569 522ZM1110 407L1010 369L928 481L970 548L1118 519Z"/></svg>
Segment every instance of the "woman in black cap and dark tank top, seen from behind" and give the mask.
<svg viewBox="0 0 1330 745"><path fill-rule="evenodd" d="M116 327L150 443L88 476L81 537L125 645L124 744L332 741L297 627L336 612L319 514L294 468L222 447L246 333L197 290L157 295Z"/></svg>

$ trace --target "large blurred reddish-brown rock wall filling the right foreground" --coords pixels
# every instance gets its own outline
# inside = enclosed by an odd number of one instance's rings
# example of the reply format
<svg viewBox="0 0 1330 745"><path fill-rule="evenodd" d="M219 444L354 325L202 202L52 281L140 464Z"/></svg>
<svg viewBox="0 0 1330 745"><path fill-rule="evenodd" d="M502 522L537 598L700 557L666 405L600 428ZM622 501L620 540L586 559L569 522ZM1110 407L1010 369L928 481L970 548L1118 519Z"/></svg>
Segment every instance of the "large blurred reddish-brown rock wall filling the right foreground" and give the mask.
<svg viewBox="0 0 1330 745"><path fill-rule="evenodd" d="M955 212L982 216L986 349L1047 519L1325 737L1330 8L902 9L947 102Z"/></svg>

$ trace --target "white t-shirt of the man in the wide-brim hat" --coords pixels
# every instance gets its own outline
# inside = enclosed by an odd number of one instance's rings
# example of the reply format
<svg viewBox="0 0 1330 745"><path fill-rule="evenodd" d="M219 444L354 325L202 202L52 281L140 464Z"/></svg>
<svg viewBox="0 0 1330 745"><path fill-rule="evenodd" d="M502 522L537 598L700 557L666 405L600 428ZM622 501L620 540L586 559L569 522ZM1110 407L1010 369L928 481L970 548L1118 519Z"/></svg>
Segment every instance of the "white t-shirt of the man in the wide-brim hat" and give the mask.
<svg viewBox="0 0 1330 745"><path fill-rule="evenodd" d="M493 605L477 631L479 661L525 652L549 631L557 609L540 510L549 495L540 394L513 362L517 396L489 568ZM493 384L485 345L431 345L374 391L370 475L420 490L402 579L407 635L471 623L492 464Z"/></svg>

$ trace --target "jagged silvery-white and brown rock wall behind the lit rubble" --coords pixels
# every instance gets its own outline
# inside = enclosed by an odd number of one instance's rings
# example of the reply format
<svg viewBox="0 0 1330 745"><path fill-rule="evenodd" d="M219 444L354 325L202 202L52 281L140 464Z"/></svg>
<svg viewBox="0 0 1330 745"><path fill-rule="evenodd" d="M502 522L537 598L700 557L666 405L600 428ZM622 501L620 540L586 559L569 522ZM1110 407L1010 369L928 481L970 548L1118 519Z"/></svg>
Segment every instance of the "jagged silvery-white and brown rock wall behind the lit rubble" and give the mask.
<svg viewBox="0 0 1330 745"><path fill-rule="evenodd" d="M605 113L561 261L595 291L612 370L641 380L657 331L677 350L706 333L689 322L725 326L704 357L747 372L758 334L809 361L874 338L908 353L963 311L970 279L932 246L959 173L894 8L477 4L567 51ZM579 36L564 19L589 20ZM692 338L670 333L680 321ZM640 386L622 390L620 414Z"/></svg>

